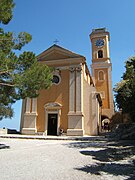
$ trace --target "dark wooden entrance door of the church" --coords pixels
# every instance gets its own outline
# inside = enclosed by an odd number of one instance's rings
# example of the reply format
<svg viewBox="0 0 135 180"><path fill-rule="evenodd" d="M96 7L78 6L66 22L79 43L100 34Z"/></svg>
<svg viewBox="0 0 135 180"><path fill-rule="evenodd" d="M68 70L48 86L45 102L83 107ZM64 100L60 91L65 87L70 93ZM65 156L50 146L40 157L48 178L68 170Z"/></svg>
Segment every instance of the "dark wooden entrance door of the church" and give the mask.
<svg viewBox="0 0 135 180"><path fill-rule="evenodd" d="M58 114L48 114L47 135L57 135Z"/></svg>

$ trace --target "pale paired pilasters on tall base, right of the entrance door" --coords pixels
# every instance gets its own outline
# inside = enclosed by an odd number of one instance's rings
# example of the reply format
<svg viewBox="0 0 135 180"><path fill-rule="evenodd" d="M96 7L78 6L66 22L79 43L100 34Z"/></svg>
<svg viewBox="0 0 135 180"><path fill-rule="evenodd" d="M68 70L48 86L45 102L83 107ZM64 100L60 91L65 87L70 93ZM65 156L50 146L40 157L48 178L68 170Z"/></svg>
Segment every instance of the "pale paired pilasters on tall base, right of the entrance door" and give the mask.
<svg viewBox="0 0 135 180"><path fill-rule="evenodd" d="M74 72L75 71L75 72ZM83 122L83 113L82 113L82 98L83 98L83 82L82 82L82 67L77 66L74 68L74 71L70 70L70 74L74 72L74 82L72 82L73 76L70 76L70 111L68 113L68 129L67 135L68 136L83 136L84 135L84 122ZM76 76L75 76L76 73ZM75 79L76 77L76 79ZM71 84L72 82L72 84ZM76 83L76 84L75 84ZM74 91L72 91L72 86L74 86ZM71 92L72 91L72 92ZM75 97L76 95L76 97ZM74 99L71 99L71 97ZM76 101L75 101L76 100ZM74 110L73 110L73 106ZM72 113L71 113L71 110ZM76 111L75 111L76 110Z"/></svg>

